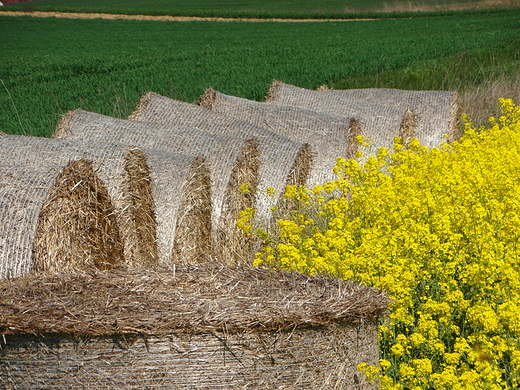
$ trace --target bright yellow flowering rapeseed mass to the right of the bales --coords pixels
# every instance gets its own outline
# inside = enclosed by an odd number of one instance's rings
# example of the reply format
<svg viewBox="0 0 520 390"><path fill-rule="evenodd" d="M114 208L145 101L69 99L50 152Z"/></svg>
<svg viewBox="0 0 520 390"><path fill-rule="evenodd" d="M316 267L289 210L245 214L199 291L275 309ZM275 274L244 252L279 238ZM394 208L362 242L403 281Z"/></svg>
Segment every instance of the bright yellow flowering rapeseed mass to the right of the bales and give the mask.
<svg viewBox="0 0 520 390"><path fill-rule="evenodd" d="M338 159L337 180L290 188L297 207L257 234L255 265L388 291L380 365L360 367L384 390L520 388L520 107L500 105L452 145Z"/></svg>

